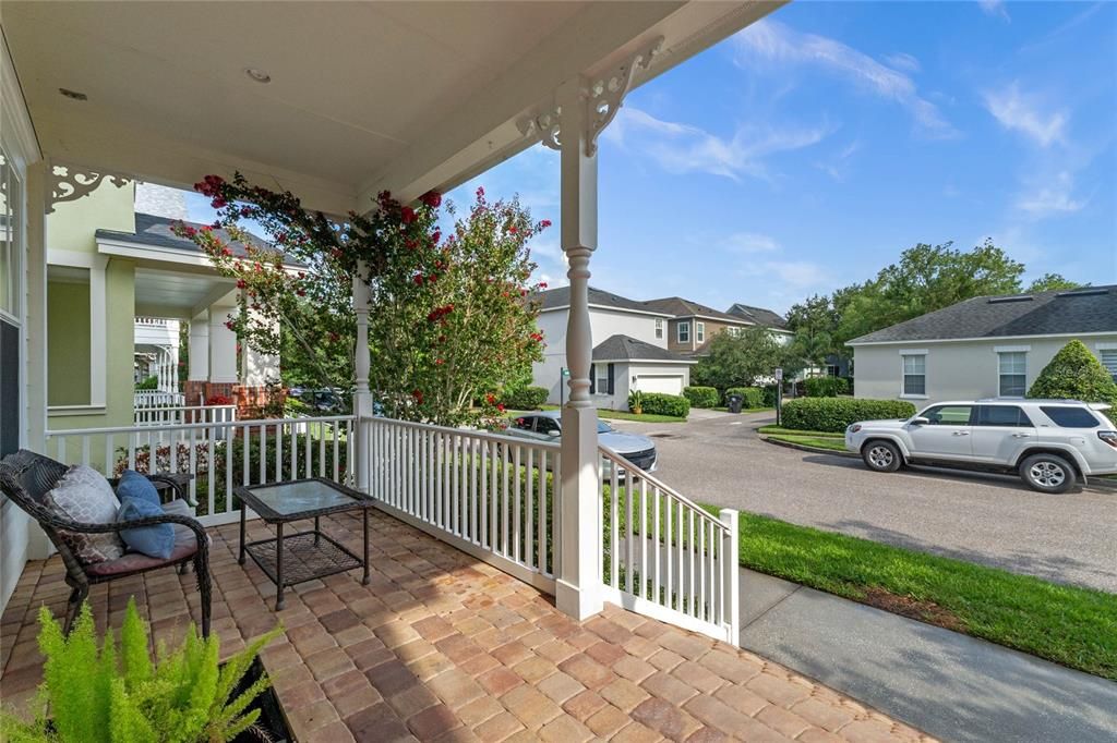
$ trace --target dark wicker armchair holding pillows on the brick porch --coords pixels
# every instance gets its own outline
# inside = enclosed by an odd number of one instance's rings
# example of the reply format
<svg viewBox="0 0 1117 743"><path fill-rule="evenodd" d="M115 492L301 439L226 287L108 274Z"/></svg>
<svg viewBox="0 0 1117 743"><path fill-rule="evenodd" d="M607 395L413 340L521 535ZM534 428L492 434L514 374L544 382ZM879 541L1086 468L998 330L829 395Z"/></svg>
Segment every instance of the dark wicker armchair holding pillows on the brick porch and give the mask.
<svg viewBox="0 0 1117 743"><path fill-rule="evenodd" d="M0 460L0 490L16 505L39 522L59 554L63 556L63 562L66 565L66 583L73 589L66 609L66 633L69 633L82 601L89 595L89 586L171 566L178 566L184 570L192 561L198 578L198 590L202 599L202 635L208 637L211 597L209 539L201 523L185 513L174 512L123 523L79 523L60 518L48 510L44 503L47 493L55 488L55 484L68 470L69 467L60 462L26 450L20 450ZM188 502L187 483L190 480L188 475L152 474L147 475L147 479L155 485L164 505L172 504L176 500L183 503ZM109 480L109 482L115 488L116 481ZM175 510L182 511L183 509L176 508ZM124 557L115 560L87 565L74 554L66 540L58 533L59 529L86 533L118 532L123 529L156 523L174 524L174 550L171 552L171 557L165 560L137 552L125 552Z"/></svg>

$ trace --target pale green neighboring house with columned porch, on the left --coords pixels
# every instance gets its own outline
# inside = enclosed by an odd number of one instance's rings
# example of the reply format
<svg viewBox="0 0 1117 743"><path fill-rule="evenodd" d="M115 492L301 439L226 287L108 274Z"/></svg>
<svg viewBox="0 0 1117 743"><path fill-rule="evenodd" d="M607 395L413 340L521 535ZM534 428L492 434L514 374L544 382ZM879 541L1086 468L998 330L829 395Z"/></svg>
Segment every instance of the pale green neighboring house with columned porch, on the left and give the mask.
<svg viewBox="0 0 1117 743"><path fill-rule="evenodd" d="M213 395L255 402L278 377L275 357L246 349L238 359L225 325L239 311L238 289L172 233L184 216L182 192L107 181L47 216L49 430L132 425L137 364L161 390L179 392L180 322L190 325L188 404Z"/></svg>

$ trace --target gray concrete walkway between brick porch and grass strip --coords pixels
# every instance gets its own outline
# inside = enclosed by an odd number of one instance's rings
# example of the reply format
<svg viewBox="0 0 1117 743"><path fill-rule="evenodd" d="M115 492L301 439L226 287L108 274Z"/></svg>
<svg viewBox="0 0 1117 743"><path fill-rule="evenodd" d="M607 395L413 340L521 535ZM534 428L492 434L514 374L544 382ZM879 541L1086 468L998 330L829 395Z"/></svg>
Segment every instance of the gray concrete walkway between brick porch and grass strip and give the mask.
<svg viewBox="0 0 1117 743"><path fill-rule="evenodd" d="M741 644L944 741L1117 741L1117 683L741 570Z"/></svg>

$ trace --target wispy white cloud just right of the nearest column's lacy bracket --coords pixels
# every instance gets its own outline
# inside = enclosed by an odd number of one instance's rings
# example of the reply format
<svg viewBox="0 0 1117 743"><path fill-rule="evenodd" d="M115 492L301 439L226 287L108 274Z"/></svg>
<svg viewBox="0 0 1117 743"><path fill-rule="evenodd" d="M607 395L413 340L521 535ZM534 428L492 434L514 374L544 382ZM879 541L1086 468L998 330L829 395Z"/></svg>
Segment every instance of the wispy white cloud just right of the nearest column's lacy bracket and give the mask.
<svg viewBox="0 0 1117 743"><path fill-rule="evenodd" d="M829 126L813 128L741 126L729 138L677 122L665 122L639 109L621 108L603 136L621 147L650 156L668 173L710 173L734 181L767 178L768 155L819 143Z"/></svg>

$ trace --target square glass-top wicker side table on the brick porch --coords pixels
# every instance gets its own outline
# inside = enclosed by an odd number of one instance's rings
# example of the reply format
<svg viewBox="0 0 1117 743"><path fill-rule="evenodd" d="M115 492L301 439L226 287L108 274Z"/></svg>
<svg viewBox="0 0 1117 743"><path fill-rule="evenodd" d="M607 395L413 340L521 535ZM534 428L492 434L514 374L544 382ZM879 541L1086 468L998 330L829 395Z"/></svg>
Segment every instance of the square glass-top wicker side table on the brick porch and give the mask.
<svg viewBox="0 0 1117 743"><path fill-rule="evenodd" d="M345 485L323 477L274 482L237 488L240 500L240 565L252 560L276 585L276 610L284 608L284 589L316 578L354 568L364 568L363 583L369 583L369 508L372 499ZM246 540L248 509L276 528L274 539ZM361 511L364 534L363 557L322 532L321 518L346 511ZM314 519L314 529L284 533L292 521Z"/></svg>

